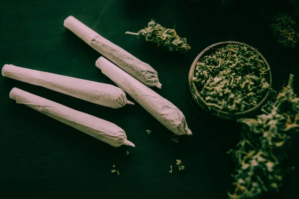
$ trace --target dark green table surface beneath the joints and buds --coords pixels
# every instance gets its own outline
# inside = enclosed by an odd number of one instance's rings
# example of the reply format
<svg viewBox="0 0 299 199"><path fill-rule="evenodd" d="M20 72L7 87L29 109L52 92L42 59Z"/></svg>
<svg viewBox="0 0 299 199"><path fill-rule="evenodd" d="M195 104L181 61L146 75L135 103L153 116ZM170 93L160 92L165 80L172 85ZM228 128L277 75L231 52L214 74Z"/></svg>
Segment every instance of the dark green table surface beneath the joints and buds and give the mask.
<svg viewBox="0 0 299 199"><path fill-rule="evenodd" d="M299 93L298 51L287 54L274 43L258 14L226 10L218 1L191 0L5 0L0 3L0 65L13 64L76 78L113 84L95 61L100 56L63 20L73 15L102 36L149 63L163 87L154 89L186 116L192 136L170 140L172 133L139 104L111 109L41 87L0 77L0 198L96 199L186 198L226 199L234 162L225 151L239 140L234 123L198 115L187 97L187 76L197 54L226 40L245 42L268 60L273 88L280 90L289 74ZM154 19L176 28L192 49L186 55L126 35ZM136 148L114 148L8 98L17 87L32 94L114 122L125 129ZM129 97L130 100L132 100ZM134 101L134 100L133 100ZM146 130L150 129L148 136ZM298 141L291 157L299 166ZM130 154L126 155L126 151ZM175 160L186 169L179 172ZM120 171L113 175L112 166ZM169 166L174 167L172 174ZM278 199L298 193L299 172L286 178Z"/></svg>

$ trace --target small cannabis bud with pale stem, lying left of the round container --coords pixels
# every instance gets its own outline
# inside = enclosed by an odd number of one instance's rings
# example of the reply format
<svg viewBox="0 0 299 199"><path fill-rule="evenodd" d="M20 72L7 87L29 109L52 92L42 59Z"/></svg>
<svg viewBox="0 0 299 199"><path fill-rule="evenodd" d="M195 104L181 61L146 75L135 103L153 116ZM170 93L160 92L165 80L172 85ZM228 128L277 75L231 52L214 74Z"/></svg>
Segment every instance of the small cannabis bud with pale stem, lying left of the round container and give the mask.
<svg viewBox="0 0 299 199"><path fill-rule="evenodd" d="M186 38L180 38L174 29L164 28L154 20L151 20L148 27L141 29L138 33L126 32L126 34L142 35L147 41L156 43L158 46L164 46L170 52L186 52L190 50L190 46L186 43Z"/></svg>

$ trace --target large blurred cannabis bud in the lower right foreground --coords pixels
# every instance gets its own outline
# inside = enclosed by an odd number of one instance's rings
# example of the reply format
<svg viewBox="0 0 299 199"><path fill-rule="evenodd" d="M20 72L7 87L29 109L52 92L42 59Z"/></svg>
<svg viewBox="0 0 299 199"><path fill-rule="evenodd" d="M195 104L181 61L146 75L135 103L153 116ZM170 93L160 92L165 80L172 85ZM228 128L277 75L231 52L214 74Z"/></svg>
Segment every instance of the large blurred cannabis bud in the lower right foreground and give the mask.
<svg viewBox="0 0 299 199"><path fill-rule="evenodd" d="M237 174L230 199L259 198L282 186L282 163L290 141L299 132L299 98L292 89L293 77L276 101L262 108L263 114L239 120L244 128L233 153Z"/></svg>

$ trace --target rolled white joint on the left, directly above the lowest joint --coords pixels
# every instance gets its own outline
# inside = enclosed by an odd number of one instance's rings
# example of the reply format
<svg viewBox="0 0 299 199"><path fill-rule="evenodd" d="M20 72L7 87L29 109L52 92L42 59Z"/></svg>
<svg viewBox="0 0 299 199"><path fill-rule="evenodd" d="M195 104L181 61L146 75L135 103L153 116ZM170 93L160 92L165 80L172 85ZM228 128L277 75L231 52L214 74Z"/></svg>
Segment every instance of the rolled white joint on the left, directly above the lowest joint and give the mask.
<svg viewBox="0 0 299 199"><path fill-rule="evenodd" d="M111 108L134 104L118 87L5 64L2 75Z"/></svg>

